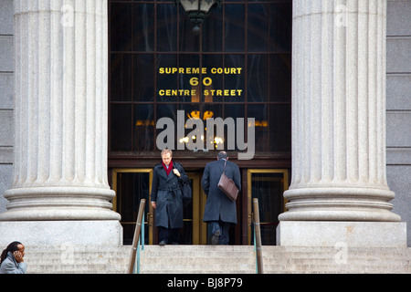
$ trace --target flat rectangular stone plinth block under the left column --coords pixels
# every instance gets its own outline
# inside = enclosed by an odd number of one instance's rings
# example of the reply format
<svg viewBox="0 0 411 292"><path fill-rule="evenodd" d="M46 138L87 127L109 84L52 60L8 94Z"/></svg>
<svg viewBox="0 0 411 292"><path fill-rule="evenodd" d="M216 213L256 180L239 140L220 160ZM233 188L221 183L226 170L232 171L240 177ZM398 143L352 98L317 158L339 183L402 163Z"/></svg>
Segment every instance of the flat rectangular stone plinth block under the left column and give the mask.
<svg viewBox="0 0 411 292"><path fill-rule="evenodd" d="M122 226L117 220L3 221L0 246L13 241L23 245L122 245Z"/></svg>

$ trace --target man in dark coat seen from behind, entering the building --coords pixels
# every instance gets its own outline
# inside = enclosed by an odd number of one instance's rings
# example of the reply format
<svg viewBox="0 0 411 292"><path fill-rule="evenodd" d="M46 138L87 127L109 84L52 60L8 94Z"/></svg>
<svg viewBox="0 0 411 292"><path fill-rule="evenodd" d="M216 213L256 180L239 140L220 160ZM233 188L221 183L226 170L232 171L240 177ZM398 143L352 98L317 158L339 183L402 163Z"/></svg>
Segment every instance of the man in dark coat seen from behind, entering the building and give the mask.
<svg viewBox="0 0 411 292"><path fill-rule="evenodd" d="M207 201L203 221L208 223L211 229L213 245L228 245L228 231L231 224L237 224L236 202L227 198L217 186L223 173L224 164L226 163L226 175L236 183L238 190L241 190L241 176L237 164L228 162L227 153L220 151L216 162L208 162L205 165L203 179L201 184Z"/></svg>

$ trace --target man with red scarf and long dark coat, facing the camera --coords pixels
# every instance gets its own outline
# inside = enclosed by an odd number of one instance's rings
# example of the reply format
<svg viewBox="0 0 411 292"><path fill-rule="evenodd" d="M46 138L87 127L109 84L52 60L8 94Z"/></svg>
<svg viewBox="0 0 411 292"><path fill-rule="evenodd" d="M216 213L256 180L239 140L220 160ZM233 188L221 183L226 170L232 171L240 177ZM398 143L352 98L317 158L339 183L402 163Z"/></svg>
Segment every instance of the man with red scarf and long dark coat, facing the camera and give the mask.
<svg viewBox="0 0 411 292"><path fill-rule="evenodd" d="M171 150L162 151L162 162L154 166L151 200L155 209L155 226L159 229L159 245L178 244L183 228L183 193L180 181L188 176L180 163L173 162Z"/></svg>

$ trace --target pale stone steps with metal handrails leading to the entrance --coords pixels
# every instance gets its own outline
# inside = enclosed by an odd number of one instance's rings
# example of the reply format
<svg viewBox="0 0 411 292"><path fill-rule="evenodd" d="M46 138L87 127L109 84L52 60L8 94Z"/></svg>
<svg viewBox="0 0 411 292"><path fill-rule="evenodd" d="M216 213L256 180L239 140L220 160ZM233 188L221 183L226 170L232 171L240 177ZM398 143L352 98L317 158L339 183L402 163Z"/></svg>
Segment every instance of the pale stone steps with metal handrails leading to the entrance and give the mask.
<svg viewBox="0 0 411 292"><path fill-rule="evenodd" d="M26 246L30 274L124 274L131 246ZM254 246L145 245L142 274L255 274ZM411 274L411 248L263 246L264 272Z"/></svg>

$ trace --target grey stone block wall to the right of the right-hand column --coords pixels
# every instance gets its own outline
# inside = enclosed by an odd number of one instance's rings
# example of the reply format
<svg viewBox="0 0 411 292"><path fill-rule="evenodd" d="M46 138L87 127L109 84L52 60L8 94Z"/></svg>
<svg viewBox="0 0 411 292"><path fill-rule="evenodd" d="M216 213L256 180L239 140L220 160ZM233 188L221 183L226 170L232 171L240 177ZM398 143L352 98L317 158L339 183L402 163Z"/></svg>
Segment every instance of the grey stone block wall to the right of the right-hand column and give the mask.
<svg viewBox="0 0 411 292"><path fill-rule="evenodd" d="M387 3L386 162L395 214L411 245L411 1Z"/></svg>

